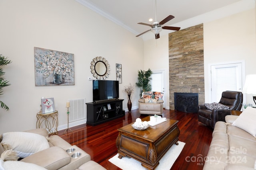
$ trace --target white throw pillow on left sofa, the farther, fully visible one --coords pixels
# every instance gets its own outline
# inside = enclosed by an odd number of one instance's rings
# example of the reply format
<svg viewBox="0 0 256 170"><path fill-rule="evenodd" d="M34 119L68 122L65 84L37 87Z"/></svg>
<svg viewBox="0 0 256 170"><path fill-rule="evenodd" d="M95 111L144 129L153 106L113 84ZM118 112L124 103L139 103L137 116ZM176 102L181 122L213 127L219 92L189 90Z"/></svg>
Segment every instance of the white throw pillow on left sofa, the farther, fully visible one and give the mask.
<svg viewBox="0 0 256 170"><path fill-rule="evenodd" d="M29 132L7 132L2 135L2 144L9 144L17 152L17 156L25 158L49 148L46 137Z"/></svg>

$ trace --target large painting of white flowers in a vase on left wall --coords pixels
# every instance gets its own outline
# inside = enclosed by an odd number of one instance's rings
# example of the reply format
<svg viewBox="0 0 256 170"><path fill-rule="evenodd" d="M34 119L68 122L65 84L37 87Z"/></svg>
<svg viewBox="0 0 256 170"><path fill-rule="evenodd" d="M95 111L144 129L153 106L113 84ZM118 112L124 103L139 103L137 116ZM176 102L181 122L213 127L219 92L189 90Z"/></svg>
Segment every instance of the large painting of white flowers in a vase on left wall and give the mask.
<svg viewBox="0 0 256 170"><path fill-rule="evenodd" d="M34 47L36 86L74 85L74 54Z"/></svg>

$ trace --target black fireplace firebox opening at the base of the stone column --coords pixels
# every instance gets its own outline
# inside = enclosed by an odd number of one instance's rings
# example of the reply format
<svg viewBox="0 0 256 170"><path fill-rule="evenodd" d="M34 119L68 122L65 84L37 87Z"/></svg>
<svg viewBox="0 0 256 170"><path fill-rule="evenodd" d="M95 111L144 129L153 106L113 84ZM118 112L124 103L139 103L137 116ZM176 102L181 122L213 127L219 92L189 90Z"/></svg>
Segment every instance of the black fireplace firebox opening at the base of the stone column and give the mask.
<svg viewBox="0 0 256 170"><path fill-rule="evenodd" d="M174 93L175 110L197 113L198 93Z"/></svg>

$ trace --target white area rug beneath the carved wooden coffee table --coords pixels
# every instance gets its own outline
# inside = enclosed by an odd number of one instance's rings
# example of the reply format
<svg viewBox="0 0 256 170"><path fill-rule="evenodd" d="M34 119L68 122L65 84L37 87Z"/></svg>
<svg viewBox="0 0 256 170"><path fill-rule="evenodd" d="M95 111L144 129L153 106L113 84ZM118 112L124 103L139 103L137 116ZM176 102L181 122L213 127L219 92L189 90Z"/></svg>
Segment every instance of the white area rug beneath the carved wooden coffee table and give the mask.
<svg viewBox="0 0 256 170"><path fill-rule="evenodd" d="M172 145L172 147L166 152L166 154L159 161L159 165L155 170L170 170L175 160L180 155L183 147L185 146L184 142L178 141L179 145ZM118 158L118 154L113 156L108 160L112 164L118 166L122 170L146 170L141 163L133 158L129 158L127 156L122 159Z"/></svg>

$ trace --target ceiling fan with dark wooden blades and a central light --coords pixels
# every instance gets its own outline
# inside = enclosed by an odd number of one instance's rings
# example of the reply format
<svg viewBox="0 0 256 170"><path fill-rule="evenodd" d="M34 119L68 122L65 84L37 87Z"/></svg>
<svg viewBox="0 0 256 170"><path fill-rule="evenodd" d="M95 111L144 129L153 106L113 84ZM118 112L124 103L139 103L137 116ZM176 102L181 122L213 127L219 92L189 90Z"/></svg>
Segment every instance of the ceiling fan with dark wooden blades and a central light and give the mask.
<svg viewBox="0 0 256 170"><path fill-rule="evenodd" d="M155 0L155 8L156 8L156 0ZM169 26L163 26L164 23L172 20L174 18L174 16L170 15L168 17L166 17L164 20L162 21L154 21L152 24L148 24L148 23L138 23L138 24L142 24L142 25L148 25L151 27L151 29L148 29L147 31L143 32L143 33L140 33L139 35L136 35L136 37L148 32L148 31L151 31L152 33L155 34L155 37L156 39L160 38L160 31L162 31L162 29L169 29L169 30L174 30L174 31L179 31L180 30L180 27L169 27Z"/></svg>

